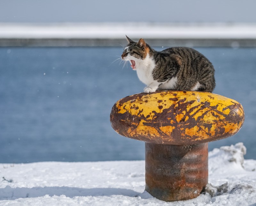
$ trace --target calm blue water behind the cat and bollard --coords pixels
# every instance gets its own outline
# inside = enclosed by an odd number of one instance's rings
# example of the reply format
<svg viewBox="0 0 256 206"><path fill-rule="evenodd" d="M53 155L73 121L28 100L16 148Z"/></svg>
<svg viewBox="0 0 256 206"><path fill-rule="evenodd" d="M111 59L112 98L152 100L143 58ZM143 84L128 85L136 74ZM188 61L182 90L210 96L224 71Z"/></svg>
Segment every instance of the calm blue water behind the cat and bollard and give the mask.
<svg viewBox="0 0 256 206"><path fill-rule="evenodd" d="M196 49L215 67L214 93L245 110L242 129L209 150L242 141L245 157L256 159L256 49ZM144 88L129 65L113 62L121 53L0 48L0 163L144 159L144 142L119 136L109 122L117 100Z"/></svg>

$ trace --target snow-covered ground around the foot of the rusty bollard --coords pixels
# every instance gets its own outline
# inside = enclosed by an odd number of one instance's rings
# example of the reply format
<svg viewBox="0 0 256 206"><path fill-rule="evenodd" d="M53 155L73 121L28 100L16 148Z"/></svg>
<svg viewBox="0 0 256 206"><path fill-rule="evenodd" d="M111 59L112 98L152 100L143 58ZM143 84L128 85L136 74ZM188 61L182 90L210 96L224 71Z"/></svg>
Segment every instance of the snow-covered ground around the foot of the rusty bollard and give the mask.
<svg viewBox="0 0 256 206"><path fill-rule="evenodd" d="M256 160L243 143L209 152L206 192L163 202L145 188L145 161L2 164L0 205L256 205Z"/></svg>

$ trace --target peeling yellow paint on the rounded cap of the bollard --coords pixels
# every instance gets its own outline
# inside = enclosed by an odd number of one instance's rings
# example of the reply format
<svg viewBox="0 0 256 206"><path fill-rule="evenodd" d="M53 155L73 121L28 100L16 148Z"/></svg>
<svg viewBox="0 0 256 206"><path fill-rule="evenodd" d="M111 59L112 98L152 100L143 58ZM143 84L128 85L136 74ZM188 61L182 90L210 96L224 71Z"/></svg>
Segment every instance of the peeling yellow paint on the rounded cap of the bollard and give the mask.
<svg viewBox="0 0 256 206"><path fill-rule="evenodd" d="M225 138L238 132L244 121L244 110L240 103L208 92L141 93L125 97L117 101L115 106L115 115L127 116L123 130L126 125L132 126L126 130L128 137L143 137L150 141L159 138L159 142L166 139L165 143L169 144L172 141L176 144L179 138L191 142Z"/></svg>

